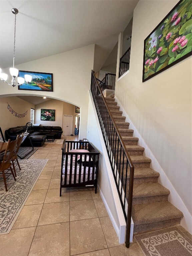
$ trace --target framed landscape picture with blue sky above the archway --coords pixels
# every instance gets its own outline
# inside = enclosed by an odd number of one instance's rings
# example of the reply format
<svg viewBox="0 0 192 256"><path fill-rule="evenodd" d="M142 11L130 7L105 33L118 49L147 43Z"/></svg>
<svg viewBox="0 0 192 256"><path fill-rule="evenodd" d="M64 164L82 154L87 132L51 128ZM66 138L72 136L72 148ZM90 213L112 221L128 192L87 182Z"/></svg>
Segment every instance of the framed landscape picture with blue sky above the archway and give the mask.
<svg viewBox="0 0 192 256"><path fill-rule="evenodd" d="M25 75L31 75L32 80L30 83L19 85L18 90L53 92L52 73L40 73L19 70L18 77L25 78Z"/></svg>

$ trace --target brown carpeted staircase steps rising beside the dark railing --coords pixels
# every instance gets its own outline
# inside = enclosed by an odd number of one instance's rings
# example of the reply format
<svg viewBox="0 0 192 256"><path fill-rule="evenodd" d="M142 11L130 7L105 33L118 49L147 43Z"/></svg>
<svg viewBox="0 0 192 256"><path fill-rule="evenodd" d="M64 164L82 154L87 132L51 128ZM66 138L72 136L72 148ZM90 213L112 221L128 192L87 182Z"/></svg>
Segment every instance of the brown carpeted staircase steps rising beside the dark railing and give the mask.
<svg viewBox="0 0 192 256"><path fill-rule="evenodd" d="M143 156L145 149L137 145L139 139L133 137L134 131L125 122L126 117L119 111L114 95L105 100L135 168L132 205L134 233L180 224L182 212L168 202L170 191L158 183L159 173L150 168L151 159ZM125 177L123 186L125 187ZM126 198L127 196L128 194Z"/></svg>

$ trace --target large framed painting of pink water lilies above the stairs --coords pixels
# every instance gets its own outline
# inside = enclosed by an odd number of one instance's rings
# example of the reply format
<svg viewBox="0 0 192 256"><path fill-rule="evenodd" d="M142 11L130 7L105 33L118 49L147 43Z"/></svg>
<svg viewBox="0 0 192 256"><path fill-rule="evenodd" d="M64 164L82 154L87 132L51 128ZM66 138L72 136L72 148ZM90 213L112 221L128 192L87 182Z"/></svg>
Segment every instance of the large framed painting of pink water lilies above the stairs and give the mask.
<svg viewBox="0 0 192 256"><path fill-rule="evenodd" d="M143 82L192 54L191 14L192 2L179 1L145 39Z"/></svg>

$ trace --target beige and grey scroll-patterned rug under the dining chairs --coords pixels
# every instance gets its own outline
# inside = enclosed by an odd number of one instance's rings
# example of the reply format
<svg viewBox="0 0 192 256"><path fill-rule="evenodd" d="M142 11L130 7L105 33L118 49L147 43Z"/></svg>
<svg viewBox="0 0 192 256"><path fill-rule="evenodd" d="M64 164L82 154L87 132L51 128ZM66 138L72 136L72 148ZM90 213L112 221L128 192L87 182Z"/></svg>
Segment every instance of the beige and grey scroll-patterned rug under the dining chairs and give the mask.
<svg viewBox="0 0 192 256"><path fill-rule="evenodd" d="M7 178L7 192L4 182L0 182L0 235L10 232L47 161L19 160L21 171L17 166L16 181L12 175Z"/></svg>

